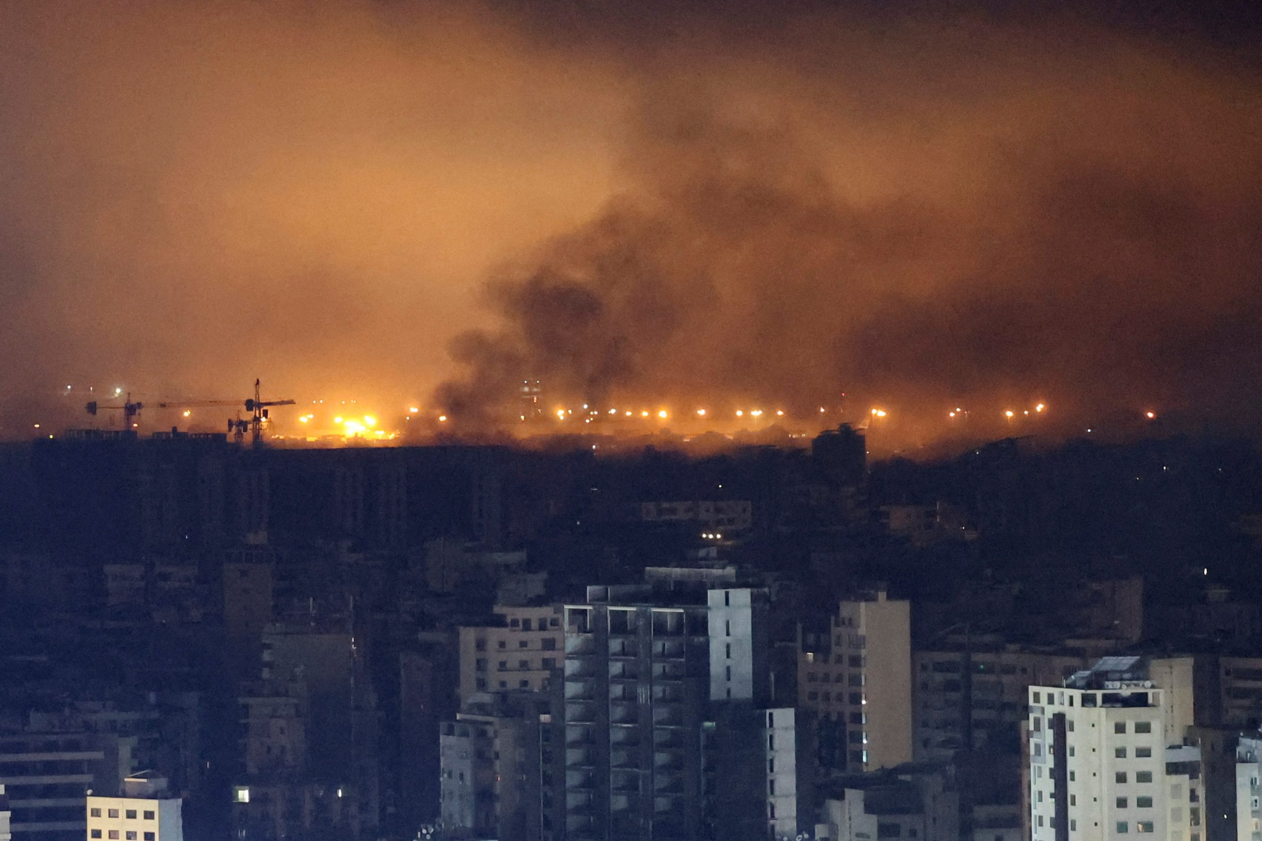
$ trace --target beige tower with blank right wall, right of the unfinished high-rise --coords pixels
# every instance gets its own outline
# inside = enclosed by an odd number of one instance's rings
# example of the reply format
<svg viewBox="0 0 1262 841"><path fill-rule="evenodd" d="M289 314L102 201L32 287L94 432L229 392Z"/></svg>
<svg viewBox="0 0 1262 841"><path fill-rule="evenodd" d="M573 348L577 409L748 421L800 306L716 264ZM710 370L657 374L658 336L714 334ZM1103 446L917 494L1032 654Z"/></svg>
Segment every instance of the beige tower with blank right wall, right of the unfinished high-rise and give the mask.
<svg viewBox="0 0 1262 841"><path fill-rule="evenodd" d="M825 764L911 762L911 603L885 590L842 601L827 633L800 634L798 707L820 720Z"/></svg>

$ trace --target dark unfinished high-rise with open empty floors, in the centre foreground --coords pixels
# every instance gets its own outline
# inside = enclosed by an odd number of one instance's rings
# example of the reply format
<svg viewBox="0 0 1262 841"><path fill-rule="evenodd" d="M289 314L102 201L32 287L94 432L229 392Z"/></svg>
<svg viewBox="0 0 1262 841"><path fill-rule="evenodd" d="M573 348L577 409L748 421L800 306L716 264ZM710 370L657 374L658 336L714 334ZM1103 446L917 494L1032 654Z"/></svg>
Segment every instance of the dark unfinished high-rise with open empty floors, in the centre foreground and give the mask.
<svg viewBox="0 0 1262 841"><path fill-rule="evenodd" d="M565 605L568 841L702 836L709 690L702 591L589 586Z"/></svg>

